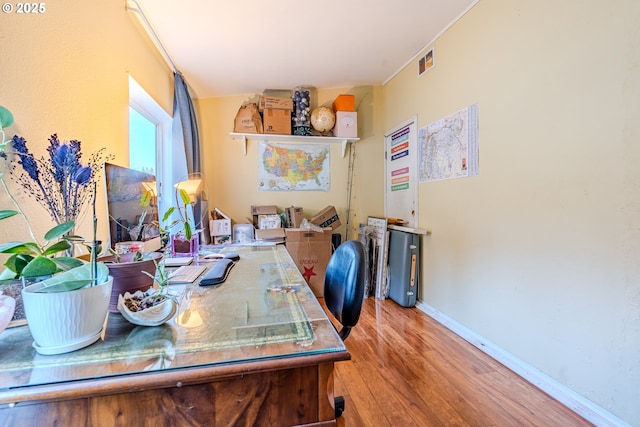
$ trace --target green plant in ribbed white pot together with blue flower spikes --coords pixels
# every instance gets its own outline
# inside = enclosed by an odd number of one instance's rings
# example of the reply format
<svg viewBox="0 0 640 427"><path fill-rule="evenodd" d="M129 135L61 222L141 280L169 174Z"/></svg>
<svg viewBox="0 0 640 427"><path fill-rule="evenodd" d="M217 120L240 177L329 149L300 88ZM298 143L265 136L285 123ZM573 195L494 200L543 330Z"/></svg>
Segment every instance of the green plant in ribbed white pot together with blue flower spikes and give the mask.
<svg viewBox="0 0 640 427"><path fill-rule="evenodd" d="M4 128L11 125L13 116L4 107L0 106L0 156L7 158L7 154L16 154L7 150L8 144L13 144L17 149L18 163L28 173L28 177L21 175L19 183L27 191L34 186L42 186L42 180L46 175L40 175L43 168L38 167L38 161L26 150L24 139L14 136L6 141ZM61 148L61 147L67 148ZM17 147L17 148L16 148ZM76 147L78 150L75 151ZM93 167L86 169L78 161L79 142L71 147L60 145L55 138L50 146L51 170L63 175L55 175L56 180L66 182L67 189L73 193L57 195L50 193L48 206L53 211L56 200L78 197L80 194L91 194L91 189L85 191L85 186L93 184L93 234L91 241L91 257L89 263L73 257L59 257L57 254L67 251L72 247L72 242L82 240L71 232L75 226L74 220L63 221L45 234L45 243L40 244L35 238L31 223L17 200L9 191L4 176L0 174L0 183L13 203L14 209L0 211L0 219L20 215L24 219L31 241L8 242L1 245L0 253L10 255L5 262L6 269L2 275L5 277L41 277L51 276L40 282L26 285L21 292L24 311L29 325L29 330L34 338L34 347L41 354L65 353L92 344L100 338L105 318L107 316L109 295L113 280L109 277L109 270L104 263L97 262L98 242L96 240L97 217L95 213L96 183L93 178ZM69 153L69 150L72 152ZM44 162L44 160L40 160ZM64 165L59 162L67 162ZM77 162L75 166L72 163ZM42 164L40 164L42 166ZM73 167L72 167L73 166ZM11 169L14 171L14 169ZM30 179L32 182L29 182ZM73 180L74 184L70 184ZM35 191L35 190L33 190ZM34 196L36 197L36 196ZM39 200L36 197L37 200ZM69 199L66 199L67 201ZM73 204L79 206L83 203L74 200ZM50 211L50 213L52 213ZM79 212L76 212L76 215ZM52 213L53 215L53 213Z"/></svg>

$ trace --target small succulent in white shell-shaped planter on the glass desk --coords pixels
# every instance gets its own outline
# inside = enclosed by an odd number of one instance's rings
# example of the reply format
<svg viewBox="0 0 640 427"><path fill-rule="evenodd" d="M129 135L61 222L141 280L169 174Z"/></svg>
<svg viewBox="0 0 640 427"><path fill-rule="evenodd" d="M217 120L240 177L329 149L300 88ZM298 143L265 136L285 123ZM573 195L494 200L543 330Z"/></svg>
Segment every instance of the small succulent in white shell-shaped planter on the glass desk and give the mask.
<svg viewBox="0 0 640 427"><path fill-rule="evenodd" d="M140 326L159 326L170 320L178 309L176 297L169 292L169 274L164 263L156 264L157 287L146 291L125 292L118 297L118 310L129 322ZM144 272L151 278L151 274Z"/></svg>

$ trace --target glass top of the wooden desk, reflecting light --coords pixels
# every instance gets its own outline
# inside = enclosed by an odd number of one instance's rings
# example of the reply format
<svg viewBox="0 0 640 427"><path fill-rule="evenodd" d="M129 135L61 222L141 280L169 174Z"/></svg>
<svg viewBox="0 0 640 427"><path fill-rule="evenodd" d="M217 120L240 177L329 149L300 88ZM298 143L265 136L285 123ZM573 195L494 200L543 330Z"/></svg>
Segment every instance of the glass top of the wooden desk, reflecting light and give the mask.
<svg viewBox="0 0 640 427"><path fill-rule="evenodd" d="M172 285L178 313L136 326L109 313L81 350L36 353L28 326L0 334L0 391L122 375L346 351L283 245L231 247L240 260L217 288Z"/></svg>

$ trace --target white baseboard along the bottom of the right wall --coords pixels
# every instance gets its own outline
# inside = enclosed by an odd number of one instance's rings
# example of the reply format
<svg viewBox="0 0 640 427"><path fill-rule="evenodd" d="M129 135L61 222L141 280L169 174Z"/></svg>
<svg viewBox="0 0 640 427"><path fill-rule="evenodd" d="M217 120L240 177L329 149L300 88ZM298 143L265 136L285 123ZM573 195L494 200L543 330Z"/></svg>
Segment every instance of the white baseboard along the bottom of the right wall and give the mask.
<svg viewBox="0 0 640 427"><path fill-rule="evenodd" d="M416 304L416 307L462 339L479 348L496 361L502 363L504 366L556 399L558 402L582 416L587 421L599 427L631 427L630 424L607 412L570 388L560 384L558 381L549 377L542 371L523 362L492 342L487 341L480 335L468 329L466 326L456 322L429 304L419 301Z"/></svg>

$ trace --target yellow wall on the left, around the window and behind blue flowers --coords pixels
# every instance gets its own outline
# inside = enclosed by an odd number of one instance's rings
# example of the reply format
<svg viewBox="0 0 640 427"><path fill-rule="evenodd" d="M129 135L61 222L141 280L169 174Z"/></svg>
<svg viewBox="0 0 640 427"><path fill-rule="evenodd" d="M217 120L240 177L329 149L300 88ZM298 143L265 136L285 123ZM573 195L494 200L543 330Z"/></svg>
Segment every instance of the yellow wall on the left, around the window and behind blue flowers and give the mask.
<svg viewBox="0 0 640 427"><path fill-rule="evenodd" d="M13 112L7 137L23 136L30 150L46 154L48 137L82 141L83 159L101 147L128 163L128 74L167 111L172 110L173 75L124 2L57 1L39 15L0 16L0 105ZM0 170L7 172L0 160ZM37 236L52 226L39 205L16 191ZM100 183L102 184L102 183ZM100 237L107 237L104 190L99 188ZM4 192L0 206L9 207ZM90 214L77 231L91 238ZM24 240L20 218L2 222L0 242Z"/></svg>

